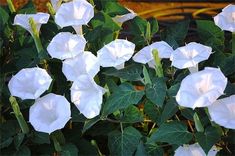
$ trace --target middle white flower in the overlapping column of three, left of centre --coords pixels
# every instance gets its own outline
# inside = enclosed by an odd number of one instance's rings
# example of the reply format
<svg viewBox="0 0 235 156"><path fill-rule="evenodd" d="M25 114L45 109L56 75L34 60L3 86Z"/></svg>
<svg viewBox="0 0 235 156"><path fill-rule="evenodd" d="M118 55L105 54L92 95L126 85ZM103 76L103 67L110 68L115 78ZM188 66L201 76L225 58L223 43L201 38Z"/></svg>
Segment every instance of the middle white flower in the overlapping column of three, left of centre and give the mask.
<svg viewBox="0 0 235 156"><path fill-rule="evenodd" d="M69 81L75 81L84 74L93 78L99 71L98 59L91 52L82 52L75 58L63 61L62 72Z"/></svg>

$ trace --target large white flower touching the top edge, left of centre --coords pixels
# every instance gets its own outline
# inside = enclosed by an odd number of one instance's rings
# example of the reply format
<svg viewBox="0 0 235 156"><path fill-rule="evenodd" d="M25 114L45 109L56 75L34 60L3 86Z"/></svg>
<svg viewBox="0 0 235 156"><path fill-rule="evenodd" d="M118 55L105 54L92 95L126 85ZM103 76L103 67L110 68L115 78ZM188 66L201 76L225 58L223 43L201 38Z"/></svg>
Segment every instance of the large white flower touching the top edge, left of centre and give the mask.
<svg viewBox="0 0 235 156"><path fill-rule="evenodd" d="M94 17L94 8L86 0L63 3L57 10L55 22L61 28L86 25Z"/></svg>

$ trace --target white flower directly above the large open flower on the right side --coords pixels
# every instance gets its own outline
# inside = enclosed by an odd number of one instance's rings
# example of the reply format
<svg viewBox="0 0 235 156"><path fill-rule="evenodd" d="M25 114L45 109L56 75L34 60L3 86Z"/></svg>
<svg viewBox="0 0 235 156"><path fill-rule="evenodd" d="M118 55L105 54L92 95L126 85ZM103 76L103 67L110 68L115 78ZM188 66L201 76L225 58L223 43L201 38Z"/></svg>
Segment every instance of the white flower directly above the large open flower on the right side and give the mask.
<svg viewBox="0 0 235 156"><path fill-rule="evenodd" d="M198 63L207 60L211 53L211 47L191 42L173 51L170 59L172 66L184 69L197 67Z"/></svg>

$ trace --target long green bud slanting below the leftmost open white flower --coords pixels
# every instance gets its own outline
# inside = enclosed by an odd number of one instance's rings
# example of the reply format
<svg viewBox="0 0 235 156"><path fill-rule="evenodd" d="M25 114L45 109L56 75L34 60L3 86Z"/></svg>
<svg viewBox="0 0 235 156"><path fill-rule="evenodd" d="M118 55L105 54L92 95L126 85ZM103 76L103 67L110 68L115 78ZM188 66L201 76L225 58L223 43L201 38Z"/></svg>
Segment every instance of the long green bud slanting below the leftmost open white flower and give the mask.
<svg viewBox="0 0 235 156"><path fill-rule="evenodd" d="M16 116L16 119L17 119L17 121L18 121L18 123L20 125L20 128L21 128L22 132L24 134L27 134L29 132L29 127L28 127L28 125L27 125L27 123L26 123L26 121L24 119L23 114L20 111L20 107L19 107L19 104L16 101L16 98L11 96L9 98L9 101L11 103L12 109L14 111L14 114Z"/></svg>

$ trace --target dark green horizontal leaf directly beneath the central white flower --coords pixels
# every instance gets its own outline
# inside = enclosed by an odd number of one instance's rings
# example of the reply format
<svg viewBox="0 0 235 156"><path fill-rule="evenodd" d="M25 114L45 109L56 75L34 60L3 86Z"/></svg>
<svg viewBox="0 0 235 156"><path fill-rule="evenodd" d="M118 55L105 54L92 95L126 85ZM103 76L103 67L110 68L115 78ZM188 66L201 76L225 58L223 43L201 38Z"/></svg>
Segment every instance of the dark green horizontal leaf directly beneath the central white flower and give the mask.
<svg viewBox="0 0 235 156"><path fill-rule="evenodd" d="M142 80L142 66L139 64L133 64L126 66L125 68L120 70L110 68L103 72L103 74L108 76L119 77L128 81L140 81Z"/></svg>

